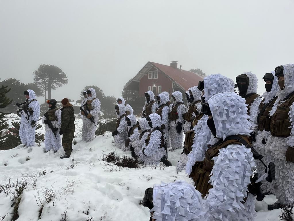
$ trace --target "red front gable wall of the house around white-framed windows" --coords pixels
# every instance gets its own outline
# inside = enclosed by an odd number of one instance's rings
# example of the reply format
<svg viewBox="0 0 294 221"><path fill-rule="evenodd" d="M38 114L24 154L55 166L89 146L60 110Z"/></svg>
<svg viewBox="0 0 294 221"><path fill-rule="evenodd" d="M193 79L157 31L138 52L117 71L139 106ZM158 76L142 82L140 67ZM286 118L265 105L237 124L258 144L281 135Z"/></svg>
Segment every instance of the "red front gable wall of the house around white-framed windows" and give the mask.
<svg viewBox="0 0 294 221"><path fill-rule="evenodd" d="M150 71L157 70L155 67L152 67ZM144 96L144 93L148 90L148 86L156 86L156 94L158 94L158 86L161 86L161 92L167 91L170 94L172 93L172 81L166 76L165 73L158 70L157 79L148 79L148 73L146 76L142 77L139 84L139 96Z"/></svg>

